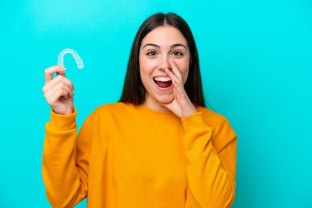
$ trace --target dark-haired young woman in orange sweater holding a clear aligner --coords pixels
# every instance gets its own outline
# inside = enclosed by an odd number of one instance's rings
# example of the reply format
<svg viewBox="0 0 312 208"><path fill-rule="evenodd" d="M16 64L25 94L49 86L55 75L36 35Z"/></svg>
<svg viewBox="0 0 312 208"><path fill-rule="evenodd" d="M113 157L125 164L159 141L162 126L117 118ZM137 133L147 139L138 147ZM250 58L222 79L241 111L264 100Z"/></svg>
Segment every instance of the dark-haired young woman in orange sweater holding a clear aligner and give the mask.
<svg viewBox="0 0 312 208"><path fill-rule="evenodd" d="M76 137L74 87L45 70L51 106L42 177L55 208L225 208L234 201L236 134L205 108L187 23L157 13L140 27L121 100L99 106ZM52 75L58 76L52 79Z"/></svg>

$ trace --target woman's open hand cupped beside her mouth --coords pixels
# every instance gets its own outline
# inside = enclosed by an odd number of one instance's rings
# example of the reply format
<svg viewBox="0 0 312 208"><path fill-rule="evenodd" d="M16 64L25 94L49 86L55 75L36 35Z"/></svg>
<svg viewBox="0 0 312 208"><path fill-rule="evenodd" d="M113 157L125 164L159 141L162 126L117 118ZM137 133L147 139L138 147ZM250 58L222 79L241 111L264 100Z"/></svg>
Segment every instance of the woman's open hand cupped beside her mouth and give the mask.
<svg viewBox="0 0 312 208"><path fill-rule="evenodd" d="M165 73L172 80L172 85L174 87L173 88L173 100L171 103L168 103L168 104L161 104L161 103L159 104L168 108L170 111L176 114L179 118L184 118L197 111L185 92L182 75L176 63L173 61L173 59L170 59L169 63L170 63L172 71L169 69L165 69Z"/></svg>

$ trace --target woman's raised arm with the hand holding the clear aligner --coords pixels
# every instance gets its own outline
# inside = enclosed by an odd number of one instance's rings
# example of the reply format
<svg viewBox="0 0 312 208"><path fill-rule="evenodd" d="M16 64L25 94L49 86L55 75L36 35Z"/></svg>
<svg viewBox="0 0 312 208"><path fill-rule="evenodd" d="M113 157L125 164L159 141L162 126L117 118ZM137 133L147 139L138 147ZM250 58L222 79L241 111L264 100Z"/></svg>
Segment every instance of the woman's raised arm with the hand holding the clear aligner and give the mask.
<svg viewBox="0 0 312 208"><path fill-rule="evenodd" d="M77 126L73 107L74 87L64 71L61 66L45 69L45 85L42 88L52 108L51 120L45 125L42 178L47 199L55 208L73 207L86 197L88 191L88 163L80 165L75 161ZM55 78L54 73L57 75ZM88 145L79 150L82 158L88 158L88 150Z"/></svg>

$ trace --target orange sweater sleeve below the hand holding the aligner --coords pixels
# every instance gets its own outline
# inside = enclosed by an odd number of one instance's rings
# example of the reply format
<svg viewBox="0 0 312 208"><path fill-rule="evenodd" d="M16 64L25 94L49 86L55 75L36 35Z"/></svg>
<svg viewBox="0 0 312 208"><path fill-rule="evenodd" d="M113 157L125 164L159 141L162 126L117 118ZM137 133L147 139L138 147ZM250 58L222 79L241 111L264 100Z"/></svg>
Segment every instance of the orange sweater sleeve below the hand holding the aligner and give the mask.
<svg viewBox="0 0 312 208"><path fill-rule="evenodd" d="M53 208L72 208L86 198L88 191L88 143L76 161L76 109L59 115L51 110L46 123L42 154L42 178L46 196ZM87 124L86 124L87 125Z"/></svg>

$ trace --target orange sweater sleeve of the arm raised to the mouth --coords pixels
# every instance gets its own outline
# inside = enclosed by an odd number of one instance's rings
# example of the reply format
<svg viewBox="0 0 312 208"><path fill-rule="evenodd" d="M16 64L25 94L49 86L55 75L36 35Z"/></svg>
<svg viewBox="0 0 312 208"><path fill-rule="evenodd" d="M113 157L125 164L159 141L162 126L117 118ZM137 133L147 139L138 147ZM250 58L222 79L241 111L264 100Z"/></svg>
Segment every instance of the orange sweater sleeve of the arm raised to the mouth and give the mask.
<svg viewBox="0 0 312 208"><path fill-rule="evenodd" d="M234 202L237 137L218 116L212 127L202 112L182 118L187 158L186 208L229 208Z"/></svg>

